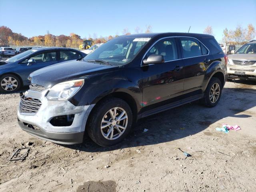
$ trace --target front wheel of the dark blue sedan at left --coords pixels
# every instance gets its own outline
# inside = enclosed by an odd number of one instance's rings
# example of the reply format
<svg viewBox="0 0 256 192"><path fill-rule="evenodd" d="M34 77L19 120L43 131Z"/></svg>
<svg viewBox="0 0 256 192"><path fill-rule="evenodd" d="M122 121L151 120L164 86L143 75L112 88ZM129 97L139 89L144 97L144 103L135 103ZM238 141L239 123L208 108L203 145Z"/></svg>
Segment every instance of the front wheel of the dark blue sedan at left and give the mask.
<svg viewBox="0 0 256 192"><path fill-rule="evenodd" d="M12 93L20 90L20 79L13 74L5 74L0 77L0 92Z"/></svg>

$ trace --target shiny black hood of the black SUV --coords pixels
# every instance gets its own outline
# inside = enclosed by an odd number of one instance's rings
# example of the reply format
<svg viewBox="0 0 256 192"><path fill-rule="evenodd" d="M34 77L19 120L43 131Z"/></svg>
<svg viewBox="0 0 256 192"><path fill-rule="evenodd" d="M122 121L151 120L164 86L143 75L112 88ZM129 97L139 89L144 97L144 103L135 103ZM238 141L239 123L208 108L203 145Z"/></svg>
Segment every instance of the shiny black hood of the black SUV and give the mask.
<svg viewBox="0 0 256 192"><path fill-rule="evenodd" d="M50 88L60 82L88 76L102 70L107 72L116 67L73 60L36 70L30 74L29 79L33 84Z"/></svg>

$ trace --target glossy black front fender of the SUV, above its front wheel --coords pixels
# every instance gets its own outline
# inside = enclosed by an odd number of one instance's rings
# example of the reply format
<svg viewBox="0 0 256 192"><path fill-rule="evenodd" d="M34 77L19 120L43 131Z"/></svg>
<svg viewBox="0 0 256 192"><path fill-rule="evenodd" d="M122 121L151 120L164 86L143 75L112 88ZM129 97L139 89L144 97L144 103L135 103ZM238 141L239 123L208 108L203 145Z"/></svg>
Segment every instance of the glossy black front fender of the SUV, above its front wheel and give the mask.
<svg viewBox="0 0 256 192"><path fill-rule="evenodd" d="M140 102L142 102L140 70L136 68L132 70L121 69L113 73L88 77L82 89L70 99L70 102L75 106L84 106L96 104L110 94L124 93L134 99L137 109L139 109ZM117 76L116 74L119 75Z"/></svg>

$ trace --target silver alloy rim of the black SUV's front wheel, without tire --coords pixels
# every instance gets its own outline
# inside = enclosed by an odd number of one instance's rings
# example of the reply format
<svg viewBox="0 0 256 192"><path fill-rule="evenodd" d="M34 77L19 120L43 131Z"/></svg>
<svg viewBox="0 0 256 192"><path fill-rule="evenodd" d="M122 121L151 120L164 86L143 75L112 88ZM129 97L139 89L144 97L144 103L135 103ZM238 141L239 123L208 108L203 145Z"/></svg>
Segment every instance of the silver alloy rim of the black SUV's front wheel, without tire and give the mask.
<svg viewBox="0 0 256 192"><path fill-rule="evenodd" d="M114 107L103 116L101 121L101 133L108 140L119 138L126 130L128 116L126 111L120 107Z"/></svg>

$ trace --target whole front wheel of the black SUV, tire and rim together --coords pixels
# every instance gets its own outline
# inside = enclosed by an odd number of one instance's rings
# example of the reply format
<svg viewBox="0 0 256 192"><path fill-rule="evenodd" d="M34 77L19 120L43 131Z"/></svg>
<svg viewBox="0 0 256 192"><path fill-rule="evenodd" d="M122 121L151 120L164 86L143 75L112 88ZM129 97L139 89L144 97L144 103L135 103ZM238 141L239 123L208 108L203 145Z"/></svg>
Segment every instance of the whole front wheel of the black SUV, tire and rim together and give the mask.
<svg viewBox="0 0 256 192"><path fill-rule="evenodd" d="M116 108L116 118L121 119L119 122L118 119L111 122L114 108ZM111 116L110 110L112 110L113 116ZM122 118L124 119L122 120ZM88 125L88 135L96 144L104 147L115 145L122 141L132 128L132 110L122 99L107 98L97 104L92 111Z"/></svg>

